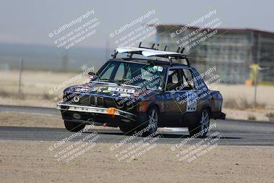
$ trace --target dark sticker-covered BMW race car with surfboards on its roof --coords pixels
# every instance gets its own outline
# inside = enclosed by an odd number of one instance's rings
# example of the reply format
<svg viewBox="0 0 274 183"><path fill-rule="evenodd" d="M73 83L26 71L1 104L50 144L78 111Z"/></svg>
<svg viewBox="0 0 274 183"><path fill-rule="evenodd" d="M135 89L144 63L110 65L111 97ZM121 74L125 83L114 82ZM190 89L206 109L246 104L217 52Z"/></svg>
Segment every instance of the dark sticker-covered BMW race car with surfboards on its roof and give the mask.
<svg viewBox="0 0 274 183"><path fill-rule="evenodd" d="M191 135L205 136L210 119L225 119L223 97L208 89L184 49L165 50L117 48L97 73L89 73L89 83L66 88L57 104L66 129L104 125L127 134L142 130L147 136L158 127L188 127ZM120 53L128 55L116 58ZM186 64L173 62L178 59Z"/></svg>

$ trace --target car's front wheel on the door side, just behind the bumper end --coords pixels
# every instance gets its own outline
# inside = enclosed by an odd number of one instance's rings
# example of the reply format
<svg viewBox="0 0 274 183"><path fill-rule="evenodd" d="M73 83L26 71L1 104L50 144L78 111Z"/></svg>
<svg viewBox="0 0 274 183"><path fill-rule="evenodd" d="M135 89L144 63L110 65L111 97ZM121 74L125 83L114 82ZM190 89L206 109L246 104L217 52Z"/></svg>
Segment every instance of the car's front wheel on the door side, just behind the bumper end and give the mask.
<svg viewBox="0 0 274 183"><path fill-rule="evenodd" d="M138 131L145 130L145 128L149 127L149 130L146 130L142 136L149 136L157 131L158 129L158 121L159 121L159 110L158 108L152 107L147 110L147 121L145 124L140 127ZM153 127L151 127L153 126Z"/></svg>

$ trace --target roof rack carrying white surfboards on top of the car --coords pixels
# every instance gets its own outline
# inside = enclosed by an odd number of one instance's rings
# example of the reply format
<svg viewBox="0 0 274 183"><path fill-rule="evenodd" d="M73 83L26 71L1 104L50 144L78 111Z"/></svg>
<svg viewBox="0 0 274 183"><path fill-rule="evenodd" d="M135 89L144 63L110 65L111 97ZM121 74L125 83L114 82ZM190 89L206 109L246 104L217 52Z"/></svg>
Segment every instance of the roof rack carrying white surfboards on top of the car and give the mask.
<svg viewBox="0 0 274 183"><path fill-rule="evenodd" d="M132 58L133 54L138 54L146 57L160 57L160 58L169 58L170 64L173 64L172 60L175 59L186 59L186 63L190 66L190 58L184 54L184 48L178 48L176 52L166 51L166 47L164 50L158 50L159 44L155 46L155 43L151 47L141 47L142 42L140 42L138 47L119 47L114 50L113 58L116 58L117 53L129 53L128 57ZM180 51L181 49L181 51Z"/></svg>

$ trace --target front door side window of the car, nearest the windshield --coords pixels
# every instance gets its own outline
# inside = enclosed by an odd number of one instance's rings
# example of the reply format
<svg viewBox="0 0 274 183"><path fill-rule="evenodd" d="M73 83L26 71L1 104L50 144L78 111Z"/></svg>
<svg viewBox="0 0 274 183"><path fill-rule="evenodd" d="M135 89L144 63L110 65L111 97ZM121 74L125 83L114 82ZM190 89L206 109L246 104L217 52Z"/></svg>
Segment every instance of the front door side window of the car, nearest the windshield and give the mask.
<svg viewBox="0 0 274 183"><path fill-rule="evenodd" d="M175 90L177 86L181 84L179 69L170 69L169 76L167 78L166 90Z"/></svg>

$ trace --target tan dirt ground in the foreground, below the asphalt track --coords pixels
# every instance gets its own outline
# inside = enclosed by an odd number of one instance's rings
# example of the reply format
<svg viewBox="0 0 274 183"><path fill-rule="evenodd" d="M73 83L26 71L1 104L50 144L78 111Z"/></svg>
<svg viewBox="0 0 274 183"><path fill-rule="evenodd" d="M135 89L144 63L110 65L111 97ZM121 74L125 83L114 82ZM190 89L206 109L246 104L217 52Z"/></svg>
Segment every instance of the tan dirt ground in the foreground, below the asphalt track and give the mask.
<svg viewBox="0 0 274 183"><path fill-rule="evenodd" d="M67 163L53 142L0 141L1 182L272 182L273 147L218 146L179 162L171 145L157 145L132 162L119 162L110 144L97 143Z"/></svg>

